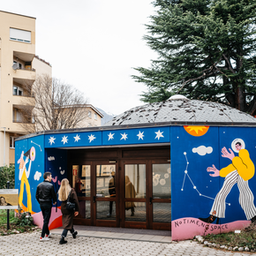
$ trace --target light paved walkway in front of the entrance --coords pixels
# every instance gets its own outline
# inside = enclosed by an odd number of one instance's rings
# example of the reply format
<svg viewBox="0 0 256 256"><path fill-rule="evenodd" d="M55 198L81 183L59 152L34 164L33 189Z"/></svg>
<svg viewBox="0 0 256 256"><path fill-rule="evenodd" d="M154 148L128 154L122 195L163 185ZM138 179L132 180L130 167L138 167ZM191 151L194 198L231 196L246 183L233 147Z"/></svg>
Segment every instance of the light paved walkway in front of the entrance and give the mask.
<svg viewBox="0 0 256 256"><path fill-rule="evenodd" d="M115 256L170 256L170 255L202 255L202 256L240 256L240 255L256 255L249 252L230 252L215 250L214 248L204 247L191 240L181 242L171 242L168 238L158 236L148 237L151 242L143 240L142 237L137 237L136 234L126 234L113 232L78 230L79 235L73 239L69 235L66 240L66 245L59 245L61 232L60 229L52 230L50 241L40 242L40 232L34 231L28 234L17 234L5 237L0 237L0 255L19 256L19 255L115 255ZM117 237L117 234L119 237ZM132 235L132 237L130 237ZM108 238L106 237L108 236ZM160 238L161 237L161 238ZM146 238L146 237L144 237ZM135 239L135 240L134 240Z"/></svg>

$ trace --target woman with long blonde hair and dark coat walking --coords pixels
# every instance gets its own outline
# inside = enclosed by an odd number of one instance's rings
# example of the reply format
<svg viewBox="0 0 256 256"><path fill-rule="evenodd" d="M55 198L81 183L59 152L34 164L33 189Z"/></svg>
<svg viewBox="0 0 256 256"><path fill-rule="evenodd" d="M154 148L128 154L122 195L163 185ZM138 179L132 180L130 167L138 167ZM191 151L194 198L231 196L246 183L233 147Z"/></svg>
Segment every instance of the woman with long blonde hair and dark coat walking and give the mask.
<svg viewBox="0 0 256 256"><path fill-rule="evenodd" d="M67 210L66 204L67 199L70 194L70 202L75 203L75 211ZM64 178L61 182L59 191L58 191L58 200L62 201L61 204L61 212L62 212L62 222L63 222L63 232L61 239L59 241L60 245L66 244L67 241L65 241L64 237L67 236L68 230L71 231L72 237L76 238L78 232L74 230L73 228L73 217L79 215L79 200L77 197L76 192L72 187L70 186L69 180L67 178Z"/></svg>

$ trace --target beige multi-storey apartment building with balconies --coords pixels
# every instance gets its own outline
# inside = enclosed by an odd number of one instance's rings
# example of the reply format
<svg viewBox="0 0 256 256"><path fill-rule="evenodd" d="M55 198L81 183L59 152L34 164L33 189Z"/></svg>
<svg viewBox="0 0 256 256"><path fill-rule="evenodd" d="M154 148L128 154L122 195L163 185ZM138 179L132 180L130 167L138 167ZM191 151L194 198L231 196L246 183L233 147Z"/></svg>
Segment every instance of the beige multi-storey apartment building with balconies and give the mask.
<svg viewBox="0 0 256 256"><path fill-rule="evenodd" d="M22 109L33 109L28 89L51 66L35 57L35 18L0 11L0 166L14 163L14 139L26 134ZM26 100L26 101L25 101ZM30 120L31 125L33 120Z"/></svg>

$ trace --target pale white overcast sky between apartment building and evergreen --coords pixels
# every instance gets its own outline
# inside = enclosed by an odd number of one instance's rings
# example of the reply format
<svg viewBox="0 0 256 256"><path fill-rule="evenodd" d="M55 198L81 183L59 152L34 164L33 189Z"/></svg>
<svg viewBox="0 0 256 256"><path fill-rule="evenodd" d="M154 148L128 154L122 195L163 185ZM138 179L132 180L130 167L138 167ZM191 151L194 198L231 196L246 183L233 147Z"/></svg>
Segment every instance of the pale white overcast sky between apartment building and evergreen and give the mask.
<svg viewBox="0 0 256 256"><path fill-rule="evenodd" d="M81 91L88 103L118 115L144 104L133 67L156 58L144 24L152 0L0 0L0 10L36 18L36 55L53 76Z"/></svg>

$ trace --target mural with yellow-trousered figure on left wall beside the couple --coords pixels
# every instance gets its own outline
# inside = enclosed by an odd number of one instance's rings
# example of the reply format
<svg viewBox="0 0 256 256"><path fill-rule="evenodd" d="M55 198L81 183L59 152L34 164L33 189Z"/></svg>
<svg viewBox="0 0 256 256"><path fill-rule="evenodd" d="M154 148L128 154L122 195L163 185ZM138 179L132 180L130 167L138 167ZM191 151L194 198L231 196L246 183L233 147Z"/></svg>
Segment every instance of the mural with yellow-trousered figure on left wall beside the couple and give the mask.
<svg viewBox="0 0 256 256"><path fill-rule="evenodd" d="M33 216L34 223L39 227L42 227L43 218L40 205L35 200L35 192L37 185L43 181L43 173L52 173L55 192L58 191L61 180L66 177L66 151L49 149L44 152L42 148L42 135L33 139L18 140L15 147L15 169L19 170L15 172L15 188L19 189L19 206ZM62 226L60 205L57 201L56 206L52 208L50 230Z"/></svg>

